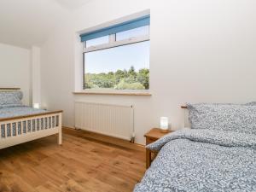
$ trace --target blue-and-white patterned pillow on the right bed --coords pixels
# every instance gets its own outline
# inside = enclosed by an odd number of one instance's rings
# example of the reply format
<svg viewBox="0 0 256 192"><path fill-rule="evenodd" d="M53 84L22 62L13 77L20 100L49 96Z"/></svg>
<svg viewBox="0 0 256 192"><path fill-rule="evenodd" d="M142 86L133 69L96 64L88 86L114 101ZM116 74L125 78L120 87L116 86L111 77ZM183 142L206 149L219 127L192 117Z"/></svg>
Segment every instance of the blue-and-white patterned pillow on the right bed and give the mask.
<svg viewBox="0 0 256 192"><path fill-rule="evenodd" d="M256 105L187 104L192 129L234 131L256 135Z"/></svg>

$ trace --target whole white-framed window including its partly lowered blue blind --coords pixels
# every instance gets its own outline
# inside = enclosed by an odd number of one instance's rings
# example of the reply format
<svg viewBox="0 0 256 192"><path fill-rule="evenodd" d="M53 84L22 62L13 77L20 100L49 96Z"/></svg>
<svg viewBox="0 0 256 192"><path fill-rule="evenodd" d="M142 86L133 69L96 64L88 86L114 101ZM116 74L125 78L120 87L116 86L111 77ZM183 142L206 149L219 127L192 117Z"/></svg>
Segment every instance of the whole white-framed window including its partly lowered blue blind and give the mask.
<svg viewBox="0 0 256 192"><path fill-rule="evenodd" d="M83 34L81 39L85 90L149 89L149 16Z"/></svg>

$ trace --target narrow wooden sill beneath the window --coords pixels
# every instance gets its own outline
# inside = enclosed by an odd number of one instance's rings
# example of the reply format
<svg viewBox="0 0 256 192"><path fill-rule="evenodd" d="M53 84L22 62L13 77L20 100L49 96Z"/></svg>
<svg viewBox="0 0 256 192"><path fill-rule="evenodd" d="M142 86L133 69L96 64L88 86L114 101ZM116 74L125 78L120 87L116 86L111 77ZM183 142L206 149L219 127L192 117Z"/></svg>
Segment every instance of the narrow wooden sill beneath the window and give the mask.
<svg viewBox="0 0 256 192"><path fill-rule="evenodd" d="M75 95L105 95L105 96L152 96L149 92L122 92L122 91L96 91L82 90L74 91Z"/></svg>

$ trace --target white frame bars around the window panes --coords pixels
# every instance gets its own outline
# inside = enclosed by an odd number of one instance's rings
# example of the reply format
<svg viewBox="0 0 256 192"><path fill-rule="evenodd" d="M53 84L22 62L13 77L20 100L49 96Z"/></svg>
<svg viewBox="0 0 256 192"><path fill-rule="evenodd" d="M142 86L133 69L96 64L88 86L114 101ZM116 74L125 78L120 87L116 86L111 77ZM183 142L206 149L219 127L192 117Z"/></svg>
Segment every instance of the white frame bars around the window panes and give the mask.
<svg viewBox="0 0 256 192"><path fill-rule="evenodd" d="M86 91L95 91L94 89L86 89L85 88L85 54L86 53L90 53L93 51L97 51L97 50L102 50L102 49L111 49L111 48L115 48L115 47L119 47L119 46L125 46L125 45L129 45L129 44L137 44L137 43L142 43L145 41L150 41L150 25L148 28L148 35L143 35L143 36L137 36L137 37L133 37L133 38L126 38L123 40L116 40L116 33L114 34L110 34L108 35L108 44L99 44L99 45L95 45L95 46L90 46L88 48L86 48L86 41L84 41L83 44L83 90ZM149 78L150 79L150 78ZM97 91L102 91L103 89L97 89ZM115 90L110 90L110 91L115 91ZM125 92L148 92L148 90L119 90L120 91L125 91Z"/></svg>

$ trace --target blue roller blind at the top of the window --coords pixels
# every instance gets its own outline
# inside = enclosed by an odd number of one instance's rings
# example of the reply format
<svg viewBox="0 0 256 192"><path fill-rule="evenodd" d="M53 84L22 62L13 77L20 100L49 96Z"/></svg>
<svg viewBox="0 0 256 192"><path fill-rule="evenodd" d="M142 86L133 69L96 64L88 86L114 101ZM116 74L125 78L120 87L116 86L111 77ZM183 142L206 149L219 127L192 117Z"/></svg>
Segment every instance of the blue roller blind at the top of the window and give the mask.
<svg viewBox="0 0 256 192"><path fill-rule="evenodd" d="M81 42L88 41L93 38L101 38L106 35L115 34L117 32L125 32L127 30L135 29L140 26L148 26L150 24L150 16L143 16L136 20L129 20L114 26L97 30L95 32L87 32L80 35Z"/></svg>

